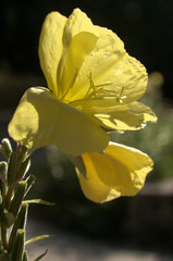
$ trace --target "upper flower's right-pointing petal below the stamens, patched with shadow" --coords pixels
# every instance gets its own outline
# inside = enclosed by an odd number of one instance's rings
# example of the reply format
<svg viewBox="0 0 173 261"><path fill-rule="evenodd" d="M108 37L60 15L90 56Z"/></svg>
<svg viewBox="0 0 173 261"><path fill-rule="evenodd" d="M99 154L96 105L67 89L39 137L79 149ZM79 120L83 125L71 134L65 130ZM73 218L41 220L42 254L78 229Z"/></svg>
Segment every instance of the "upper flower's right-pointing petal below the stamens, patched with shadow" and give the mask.
<svg viewBox="0 0 173 261"><path fill-rule="evenodd" d="M152 110L137 101L124 104L104 98L78 100L71 104L108 129L135 130L145 127L147 122L157 121Z"/></svg>

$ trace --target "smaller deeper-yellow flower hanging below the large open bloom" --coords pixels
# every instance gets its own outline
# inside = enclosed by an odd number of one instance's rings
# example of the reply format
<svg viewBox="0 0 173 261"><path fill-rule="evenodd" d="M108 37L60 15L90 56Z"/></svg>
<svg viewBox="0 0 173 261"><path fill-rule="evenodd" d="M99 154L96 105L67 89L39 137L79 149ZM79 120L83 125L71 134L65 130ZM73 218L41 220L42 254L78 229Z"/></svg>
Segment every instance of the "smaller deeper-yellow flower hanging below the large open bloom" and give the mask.
<svg viewBox="0 0 173 261"><path fill-rule="evenodd" d="M85 153L82 158L86 174L76 165L82 190L98 203L120 196L135 196L153 164L146 153L115 142L110 142L104 153Z"/></svg>

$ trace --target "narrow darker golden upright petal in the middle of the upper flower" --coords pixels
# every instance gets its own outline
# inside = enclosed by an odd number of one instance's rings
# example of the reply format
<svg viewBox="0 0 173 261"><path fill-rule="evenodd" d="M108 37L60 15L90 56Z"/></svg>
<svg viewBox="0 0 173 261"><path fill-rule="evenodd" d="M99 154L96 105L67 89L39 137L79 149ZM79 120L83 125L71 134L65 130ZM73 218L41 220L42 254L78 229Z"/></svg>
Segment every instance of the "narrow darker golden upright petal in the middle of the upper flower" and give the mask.
<svg viewBox="0 0 173 261"><path fill-rule="evenodd" d="M87 90L84 90L83 85L81 85L77 90L73 88L73 85L75 84L83 62L95 48L97 39L98 37L89 32L82 32L72 38L59 84L62 91L60 99L67 102L71 99L75 100L85 96Z"/></svg>

